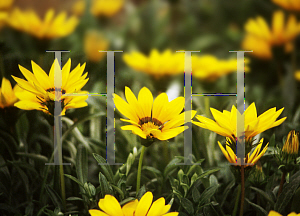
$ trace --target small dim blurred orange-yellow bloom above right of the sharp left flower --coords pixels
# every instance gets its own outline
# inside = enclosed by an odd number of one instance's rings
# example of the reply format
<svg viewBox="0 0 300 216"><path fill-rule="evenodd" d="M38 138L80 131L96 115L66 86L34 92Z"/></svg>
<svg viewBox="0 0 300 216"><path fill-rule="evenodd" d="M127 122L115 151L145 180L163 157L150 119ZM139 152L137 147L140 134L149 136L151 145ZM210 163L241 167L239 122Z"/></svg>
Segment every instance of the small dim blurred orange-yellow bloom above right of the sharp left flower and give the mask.
<svg viewBox="0 0 300 216"><path fill-rule="evenodd" d="M109 41L98 31L88 31L84 37L84 51L88 60L92 62L100 61L108 49Z"/></svg>

